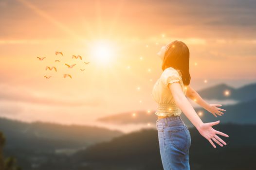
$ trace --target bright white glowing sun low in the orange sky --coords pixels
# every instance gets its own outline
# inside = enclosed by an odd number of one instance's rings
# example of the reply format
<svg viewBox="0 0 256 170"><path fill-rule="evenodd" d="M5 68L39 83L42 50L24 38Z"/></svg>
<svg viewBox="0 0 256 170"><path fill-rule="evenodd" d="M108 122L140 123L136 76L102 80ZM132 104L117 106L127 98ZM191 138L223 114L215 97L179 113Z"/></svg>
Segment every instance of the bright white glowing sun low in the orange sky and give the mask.
<svg viewBox="0 0 256 170"><path fill-rule="evenodd" d="M110 63L115 55L115 47L111 41L97 40L91 43L91 56L100 63Z"/></svg>

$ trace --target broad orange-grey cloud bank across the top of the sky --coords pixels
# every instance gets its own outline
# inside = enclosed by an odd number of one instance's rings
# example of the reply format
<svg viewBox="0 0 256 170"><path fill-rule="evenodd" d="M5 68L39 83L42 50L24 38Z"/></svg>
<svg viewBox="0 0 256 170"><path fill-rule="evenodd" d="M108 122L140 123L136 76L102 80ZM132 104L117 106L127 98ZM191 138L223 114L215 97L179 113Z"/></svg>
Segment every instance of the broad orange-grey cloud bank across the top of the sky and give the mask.
<svg viewBox="0 0 256 170"><path fill-rule="evenodd" d="M112 32L121 34L123 30L128 36L168 31L168 34L184 38L256 37L252 34L256 27L254 0L130 0L124 2L121 10L117 9L119 3L120 0L101 0L99 3L80 0L65 3L56 0L47 3L43 0L4 1L0 6L0 16L4 16L0 17L0 37L82 37L91 35L95 27L101 29L97 26L102 26L104 32L113 25ZM84 10L84 6L92 8ZM75 11L67 13L73 8ZM111 25L113 20L115 23Z"/></svg>

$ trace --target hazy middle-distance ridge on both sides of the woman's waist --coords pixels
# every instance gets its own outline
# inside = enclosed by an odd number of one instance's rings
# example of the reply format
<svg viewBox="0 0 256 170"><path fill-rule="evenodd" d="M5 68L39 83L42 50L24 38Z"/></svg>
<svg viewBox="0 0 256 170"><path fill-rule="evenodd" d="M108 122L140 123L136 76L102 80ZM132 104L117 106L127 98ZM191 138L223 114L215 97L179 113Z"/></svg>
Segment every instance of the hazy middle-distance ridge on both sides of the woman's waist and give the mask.
<svg viewBox="0 0 256 170"><path fill-rule="evenodd" d="M195 108L196 112L202 111L203 116L201 119L203 122L217 121L220 123L234 122L238 124L243 123L256 123L256 99L249 102L240 102L233 105L222 105L221 108L225 109L223 116L214 117L210 112L204 110L203 108ZM184 113L181 114L181 118L188 127L193 126L189 119L186 118ZM98 121L108 122L113 124L136 124L136 123L156 123L157 116L154 112L148 114L146 111L136 112L136 118L131 116L131 113L122 113L117 115L112 115L109 117L99 118Z"/></svg>

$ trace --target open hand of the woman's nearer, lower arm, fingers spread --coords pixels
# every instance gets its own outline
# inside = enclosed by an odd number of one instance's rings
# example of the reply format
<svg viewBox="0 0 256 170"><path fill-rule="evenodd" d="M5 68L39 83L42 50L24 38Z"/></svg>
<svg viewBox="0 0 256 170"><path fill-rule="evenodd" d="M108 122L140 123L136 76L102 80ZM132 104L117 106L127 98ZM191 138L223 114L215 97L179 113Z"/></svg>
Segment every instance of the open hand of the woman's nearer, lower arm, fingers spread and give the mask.
<svg viewBox="0 0 256 170"><path fill-rule="evenodd" d="M219 120L218 121L214 121L214 122L209 122L209 123L203 123L200 128L198 129L199 133L201 134L201 136L205 137L214 148L216 148L216 146L214 145L213 141L215 141L216 143L218 143L221 147L223 147L223 145L221 143L223 143L224 145L227 145L226 142L224 142L219 136L217 136L216 134L228 137L227 134L224 134L222 132L219 132L215 129L212 128L213 125L219 124ZM212 141L212 140L213 141ZM220 142L221 143L220 143Z"/></svg>

